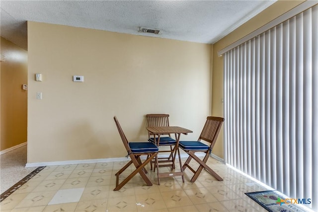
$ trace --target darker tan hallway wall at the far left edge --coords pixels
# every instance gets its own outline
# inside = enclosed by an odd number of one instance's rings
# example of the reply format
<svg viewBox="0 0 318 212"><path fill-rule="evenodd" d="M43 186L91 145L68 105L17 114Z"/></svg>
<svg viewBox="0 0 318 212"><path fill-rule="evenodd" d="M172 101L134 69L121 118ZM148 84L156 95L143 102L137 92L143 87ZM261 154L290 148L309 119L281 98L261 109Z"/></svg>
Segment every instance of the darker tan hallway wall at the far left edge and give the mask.
<svg viewBox="0 0 318 212"><path fill-rule="evenodd" d="M27 141L27 52L1 37L0 150Z"/></svg>

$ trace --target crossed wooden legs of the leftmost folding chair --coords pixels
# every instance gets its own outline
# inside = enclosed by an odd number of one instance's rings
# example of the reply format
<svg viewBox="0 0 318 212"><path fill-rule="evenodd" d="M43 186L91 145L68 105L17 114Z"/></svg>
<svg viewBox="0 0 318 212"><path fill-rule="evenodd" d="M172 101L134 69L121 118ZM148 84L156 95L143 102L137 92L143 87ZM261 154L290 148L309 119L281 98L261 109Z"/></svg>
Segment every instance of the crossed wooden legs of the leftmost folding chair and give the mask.
<svg viewBox="0 0 318 212"><path fill-rule="evenodd" d="M114 191L118 191L119 189L121 189L128 181L130 181L138 172L141 175L141 177L144 179L144 181L146 182L146 184L148 186L152 186L152 182L150 181L150 179L147 177L147 175L145 174L145 172L142 170L154 157L157 156L157 152L152 154L144 163L140 164L138 162L138 160L135 158L134 155L130 155L131 161L129 161L129 163L134 163L136 170L134 170L128 177L126 177L120 184L118 184L118 178L120 173L122 173L128 166L128 164L126 164L119 172L116 173L116 188L114 189Z"/></svg>

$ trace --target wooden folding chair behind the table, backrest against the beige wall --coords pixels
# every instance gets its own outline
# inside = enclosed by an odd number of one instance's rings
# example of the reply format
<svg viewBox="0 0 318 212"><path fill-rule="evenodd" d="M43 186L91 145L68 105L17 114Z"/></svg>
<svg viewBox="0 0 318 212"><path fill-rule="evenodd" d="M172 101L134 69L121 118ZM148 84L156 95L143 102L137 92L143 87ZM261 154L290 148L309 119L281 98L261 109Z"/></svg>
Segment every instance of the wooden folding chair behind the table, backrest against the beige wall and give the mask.
<svg viewBox="0 0 318 212"><path fill-rule="evenodd" d="M169 115L168 114L147 114L146 119L147 119L147 127L168 127L169 126ZM176 141L171 138L171 135L170 134L160 135L160 140L158 143L158 137L155 137L154 134L152 134L148 131L148 141L151 141L158 146L170 146L170 150L160 150L159 151L161 153L162 152L169 153L169 156L158 157L158 162L161 163L161 165L159 165L160 167L171 166L171 170L172 170L172 168L175 168L175 167L172 167L172 160L174 160L173 152L175 150L174 148L176 145ZM152 168L152 163L151 163L151 168ZM165 163L165 164L163 164L163 163ZM171 165L166 164L166 163L171 163ZM156 167L154 168L154 171L155 170L156 170Z"/></svg>

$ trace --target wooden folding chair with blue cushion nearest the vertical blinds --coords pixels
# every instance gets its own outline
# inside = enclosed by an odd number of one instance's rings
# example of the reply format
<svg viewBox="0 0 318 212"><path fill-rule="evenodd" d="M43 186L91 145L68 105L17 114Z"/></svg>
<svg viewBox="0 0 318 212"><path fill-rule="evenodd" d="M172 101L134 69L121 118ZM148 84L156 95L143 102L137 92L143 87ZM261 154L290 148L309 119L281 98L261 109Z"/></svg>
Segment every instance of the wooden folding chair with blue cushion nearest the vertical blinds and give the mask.
<svg viewBox="0 0 318 212"><path fill-rule="evenodd" d="M203 168L205 168L210 174L212 174L219 181L223 180L217 173L215 173L206 164L211 154L211 151L213 149L213 146L215 144L215 141L218 138L223 122L224 122L224 118L209 116L207 117L207 121L205 122L205 125L203 127L203 130L201 132L201 135L198 141L179 141L179 147L189 154L188 159L185 161L185 163L182 166L182 170L185 170L188 167L194 173L191 179L191 182L196 181L196 179L200 175ZM200 142L201 140L209 142L210 145ZM196 156L194 154L195 152L204 152L205 156L203 160L201 160L198 156ZM189 165L192 158L196 160L200 165L196 171Z"/></svg>

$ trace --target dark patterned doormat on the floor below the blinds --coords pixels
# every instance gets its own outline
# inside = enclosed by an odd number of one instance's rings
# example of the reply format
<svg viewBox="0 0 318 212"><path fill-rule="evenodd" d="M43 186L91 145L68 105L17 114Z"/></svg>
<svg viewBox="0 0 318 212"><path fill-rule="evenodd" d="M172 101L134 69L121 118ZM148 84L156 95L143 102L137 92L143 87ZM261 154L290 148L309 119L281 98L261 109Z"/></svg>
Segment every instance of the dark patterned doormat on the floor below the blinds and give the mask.
<svg viewBox="0 0 318 212"><path fill-rule="evenodd" d="M309 212L309 210L298 206L299 204L292 203L289 200L285 201L285 198L278 194L276 190L245 194L269 212ZM305 201L303 203L308 204L309 202Z"/></svg>

